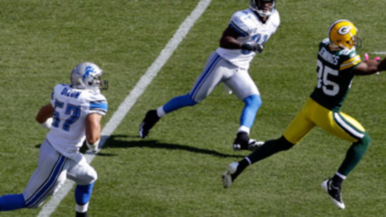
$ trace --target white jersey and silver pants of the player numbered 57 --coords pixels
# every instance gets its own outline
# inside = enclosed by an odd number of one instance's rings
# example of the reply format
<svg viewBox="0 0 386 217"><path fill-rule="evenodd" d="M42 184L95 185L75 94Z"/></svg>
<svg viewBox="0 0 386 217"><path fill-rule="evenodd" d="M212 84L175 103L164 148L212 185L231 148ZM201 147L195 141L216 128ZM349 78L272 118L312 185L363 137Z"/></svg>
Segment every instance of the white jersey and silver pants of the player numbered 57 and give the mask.
<svg viewBox="0 0 386 217"><path fill-rule="evenodd" d="M89 185L97 180L97 172L86 162L79 148L85 141L87 115L105 115L106 98L88 89L60 84L54 87L51 105L54 108L52 127L41 145L38 167L23 192L29 208L38 207L66 178L78 185Z"/></svg>

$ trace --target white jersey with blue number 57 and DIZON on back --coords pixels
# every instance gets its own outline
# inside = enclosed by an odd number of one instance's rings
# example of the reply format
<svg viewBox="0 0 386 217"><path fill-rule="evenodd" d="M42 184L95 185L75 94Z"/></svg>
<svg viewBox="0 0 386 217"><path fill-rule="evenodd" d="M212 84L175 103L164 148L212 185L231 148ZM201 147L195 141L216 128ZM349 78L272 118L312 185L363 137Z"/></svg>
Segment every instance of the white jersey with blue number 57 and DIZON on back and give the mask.
<svg viewBox="0 0 386 217"><path fill-rule="evenodd" d="M107 100L101 93L60 84L54 87L51 105L54 107L54 115L47 140L59 153L73 159L86 138L87 115L105 115Z"/></svg>

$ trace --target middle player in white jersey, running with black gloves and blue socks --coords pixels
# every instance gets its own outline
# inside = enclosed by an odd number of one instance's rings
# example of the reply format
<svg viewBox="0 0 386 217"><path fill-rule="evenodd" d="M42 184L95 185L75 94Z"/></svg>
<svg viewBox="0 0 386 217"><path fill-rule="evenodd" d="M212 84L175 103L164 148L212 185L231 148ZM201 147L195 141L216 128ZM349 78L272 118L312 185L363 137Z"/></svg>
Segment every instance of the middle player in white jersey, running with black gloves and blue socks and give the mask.
<svg viewBox="0 0 386 217"><path fill-rule="evenodd" d="M251 0L249 5L248 9L232 15L220 39L220 47L209 56L190 92L172 98L156 110L149 110L140 125L139 136L147 137L161 117L179 108L196 105L223 83L229 93L235 93L245 104L233 149L253 150L262 144L249 138L261 97L248 69L254 56L262 52L264 43L276 32L280 17L275 0Z"/></svg>

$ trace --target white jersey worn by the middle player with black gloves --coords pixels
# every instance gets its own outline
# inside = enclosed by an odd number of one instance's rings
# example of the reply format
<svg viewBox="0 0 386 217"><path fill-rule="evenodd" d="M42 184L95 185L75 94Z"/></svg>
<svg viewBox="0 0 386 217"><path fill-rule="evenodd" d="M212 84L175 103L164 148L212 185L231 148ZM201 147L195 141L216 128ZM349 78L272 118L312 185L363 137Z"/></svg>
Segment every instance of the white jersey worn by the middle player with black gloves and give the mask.
<svg viewBox="0 0 386 217"><path fill-rule="evenodd" d="M230 28L239 32L241 36L237 38L237 41L243 44L264 44L276 32L279 25L280 17L277 10L273 10L265 23L262 23L251 9L237 11L232 15L229 23ZM230 63L246 70L256 55L256 52L253 51L222 47L217 49L217 53Z"/></svg>

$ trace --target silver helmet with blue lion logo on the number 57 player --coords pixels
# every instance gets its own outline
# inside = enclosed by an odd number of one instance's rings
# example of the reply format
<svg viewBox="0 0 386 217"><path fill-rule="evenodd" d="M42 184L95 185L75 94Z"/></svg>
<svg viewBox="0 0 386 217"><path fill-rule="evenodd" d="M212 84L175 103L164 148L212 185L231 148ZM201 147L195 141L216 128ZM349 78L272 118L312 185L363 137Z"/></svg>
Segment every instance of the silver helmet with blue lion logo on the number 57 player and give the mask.
<svg viewBox="0 0 386 217"><path fill-rule="evenodd" d="M90 89L94 92L107 90L108 82L101 80L103 70L95 63L80 63L71 71L71 87L77 89Z"/></svg>

